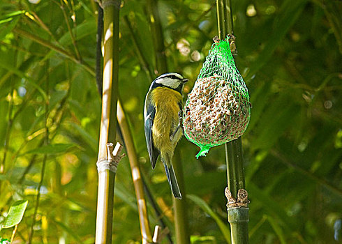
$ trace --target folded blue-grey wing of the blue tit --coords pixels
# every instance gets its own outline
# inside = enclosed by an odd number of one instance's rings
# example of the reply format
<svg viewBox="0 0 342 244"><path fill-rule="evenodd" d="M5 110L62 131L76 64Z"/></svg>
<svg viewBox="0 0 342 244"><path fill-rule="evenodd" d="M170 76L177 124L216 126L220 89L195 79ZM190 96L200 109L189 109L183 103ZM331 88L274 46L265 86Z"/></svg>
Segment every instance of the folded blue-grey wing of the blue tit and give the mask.
<svg viewBox="0 0 342 244"><path fill-rule="evenodd" d="M154 122L154 116L156 115L156 107L154 105L145 104L145 137L146 137L146 144L147 144L147 151L149 151L149 159L151 160L152 168L156 167L156 162L158 159L158 155L161 152L154 146L153 143L153 135L152 135L152 127Z"/></svg>

